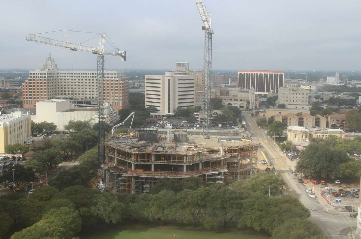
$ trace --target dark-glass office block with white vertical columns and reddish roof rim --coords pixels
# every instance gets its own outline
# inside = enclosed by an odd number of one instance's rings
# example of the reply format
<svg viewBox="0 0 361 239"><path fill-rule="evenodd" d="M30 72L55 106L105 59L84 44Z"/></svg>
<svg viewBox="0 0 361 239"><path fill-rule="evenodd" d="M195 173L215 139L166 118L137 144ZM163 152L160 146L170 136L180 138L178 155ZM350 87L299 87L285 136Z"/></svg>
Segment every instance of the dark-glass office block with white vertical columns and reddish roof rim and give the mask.
<svg viewBox="0 0 361 239"><path fill-rule="evenodd" d="M238 87L255 89L256 94L277 93L283 86L283 71L239 71Z"/></svg>

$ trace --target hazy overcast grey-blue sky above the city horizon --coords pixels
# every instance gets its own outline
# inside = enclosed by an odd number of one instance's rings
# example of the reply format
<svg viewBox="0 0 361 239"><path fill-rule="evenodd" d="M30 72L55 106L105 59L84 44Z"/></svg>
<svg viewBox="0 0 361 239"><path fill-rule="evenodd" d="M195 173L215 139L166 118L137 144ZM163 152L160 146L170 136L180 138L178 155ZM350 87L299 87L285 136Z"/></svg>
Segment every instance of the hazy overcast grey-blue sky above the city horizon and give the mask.
<svg viewBox="0 0 361 239"><path fill-rule="evenodd" d="M212 12L212 69L361 70L361 1L203 4ZM42 68L48 53L59 69L71 69L69 50L25 41L29 33L61 29L104 32L126 51L126 62L106 56L106 69L174 69L177 61L203 68L204 32L195 0L4 0L1 9L0 69ZM42 36L64 40L63 32ZM69 33L68 40L92 36ZM76 52L74 69L96 69L96 55Z"/></svg>

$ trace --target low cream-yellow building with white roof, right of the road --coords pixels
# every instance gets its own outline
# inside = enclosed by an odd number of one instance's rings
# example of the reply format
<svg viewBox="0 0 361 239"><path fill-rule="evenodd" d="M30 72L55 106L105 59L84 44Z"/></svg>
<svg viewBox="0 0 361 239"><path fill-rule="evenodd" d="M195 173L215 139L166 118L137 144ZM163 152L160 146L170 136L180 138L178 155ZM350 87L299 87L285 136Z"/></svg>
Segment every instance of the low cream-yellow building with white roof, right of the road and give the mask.
<svg viewBox="0 0 361 239"><path fill-rule="evenodd" d="M319 128L290 126L287 128L287 140L309 142L311 139L329 139L331 135L344 138L345 131L338 128Z"/></svg>

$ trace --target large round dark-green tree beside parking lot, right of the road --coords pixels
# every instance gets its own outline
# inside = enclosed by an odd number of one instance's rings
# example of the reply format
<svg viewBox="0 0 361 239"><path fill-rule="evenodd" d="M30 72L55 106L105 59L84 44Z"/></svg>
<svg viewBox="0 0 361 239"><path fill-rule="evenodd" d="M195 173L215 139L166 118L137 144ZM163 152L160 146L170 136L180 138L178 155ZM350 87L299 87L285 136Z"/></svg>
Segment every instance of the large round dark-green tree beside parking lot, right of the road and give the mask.
<svg viewBox="0 0 361 239"><path fill-rule="evenodd" d="M323 141L316 141L311 142L301 153L296 171L306 176L334 179L340 175L340 164L349 161L350 158L343 149L331 148Z"/></svg>

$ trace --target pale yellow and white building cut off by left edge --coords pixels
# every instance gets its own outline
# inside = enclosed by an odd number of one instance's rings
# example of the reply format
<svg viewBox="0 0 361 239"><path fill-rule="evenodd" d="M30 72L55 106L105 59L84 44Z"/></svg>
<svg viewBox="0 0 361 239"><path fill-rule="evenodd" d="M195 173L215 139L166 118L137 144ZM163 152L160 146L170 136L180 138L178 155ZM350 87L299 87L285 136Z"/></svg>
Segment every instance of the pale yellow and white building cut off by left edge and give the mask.
<svg viewBox="0 0 361 239"><path fill-rule="evenodd" d="M15 111L0 115L0 153L13 144L27 144L31 140L30 112Z"/></svg>

